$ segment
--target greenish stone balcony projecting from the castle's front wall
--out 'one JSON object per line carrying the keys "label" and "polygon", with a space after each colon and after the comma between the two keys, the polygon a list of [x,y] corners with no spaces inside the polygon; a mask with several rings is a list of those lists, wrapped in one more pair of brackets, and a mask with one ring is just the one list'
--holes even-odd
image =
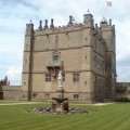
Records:
{"label": "greenish stone balcony projecting from the castle's front wall", "polygon": [[63,67],[63,61],[49,61],[47,67]]}

